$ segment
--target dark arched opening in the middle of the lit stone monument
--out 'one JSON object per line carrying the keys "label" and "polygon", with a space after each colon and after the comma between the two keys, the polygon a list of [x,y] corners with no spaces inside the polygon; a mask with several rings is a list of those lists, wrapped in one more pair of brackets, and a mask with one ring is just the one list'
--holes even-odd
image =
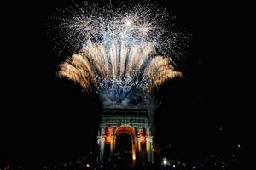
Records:
{"label": "dark arched opening in the middle of the lit stone monument", "polygon": [[129,133],[119,133],[116,137],[115,160],[120,167],[132,164],[132,143]]}

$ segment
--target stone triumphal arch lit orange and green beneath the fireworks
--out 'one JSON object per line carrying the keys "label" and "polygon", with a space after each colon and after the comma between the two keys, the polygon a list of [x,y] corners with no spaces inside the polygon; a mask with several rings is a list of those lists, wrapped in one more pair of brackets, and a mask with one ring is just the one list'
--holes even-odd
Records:
{"label": "stone triumphal arch lit orange and green beneath the fireworks", "polygon": [[[132,165],[154,163],[148,110],[103,109],[100,118],[97,162],[112,163],[122,159],[124,155],[121,153],[125,153],[128,157],[126,161],[131,161]],[[122,152],[124,147],[125,152]]]}

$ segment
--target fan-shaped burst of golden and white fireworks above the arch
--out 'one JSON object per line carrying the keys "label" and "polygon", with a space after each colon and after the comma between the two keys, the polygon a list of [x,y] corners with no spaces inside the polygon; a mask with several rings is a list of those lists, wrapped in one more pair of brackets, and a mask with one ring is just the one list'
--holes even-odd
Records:
{"label": "fan-shaped burst of golden and white fireworks above the arch", "polygon": [[60,77],[99,94],[104,107],[140,108],[154,103],[154,88],[182,76],[172,66],[186,37],[170,31],[166,10],[155,4],[99,7],[85,3],[61,20],[61,35],[75,51]]}

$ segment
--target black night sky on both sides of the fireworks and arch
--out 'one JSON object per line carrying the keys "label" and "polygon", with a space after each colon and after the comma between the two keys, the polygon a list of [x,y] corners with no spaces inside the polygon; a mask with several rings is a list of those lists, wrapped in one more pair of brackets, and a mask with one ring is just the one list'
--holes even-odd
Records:
{"label": "black night sky on both sides of the fireworks and arch", "polygon": [[[175,27],[191,34],[180,63],[183,79],[166,82],[156,92],[161,105],[155,111],[155,139],[163,154],[187,164],[213,156],[228,162],[227,169],[255,168],[256,125],[253,111],[244,105],[244,94],[251,91],[240,62],[245,53],[239,4],[159,2],[177,16]],[[71,4],[44,0],[2,7],[9,11],[2,20],[7,27],[1,55],[1,163],[37,167],[94,151],[101,102],[56,77],[69,54],[59,56],[47,33],[56,8]]]}

